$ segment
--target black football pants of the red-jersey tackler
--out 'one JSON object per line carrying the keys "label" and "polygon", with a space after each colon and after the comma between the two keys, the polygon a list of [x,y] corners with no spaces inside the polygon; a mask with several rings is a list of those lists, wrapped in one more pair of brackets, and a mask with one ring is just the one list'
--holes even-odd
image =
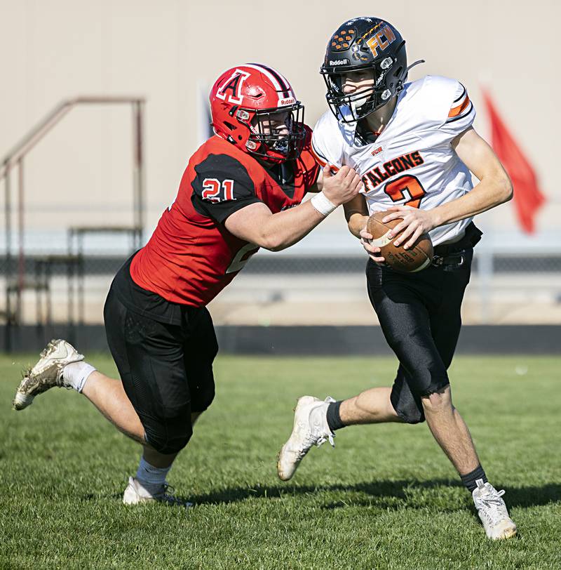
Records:
{"label": "black football pants of the red-jersey tackler", "polygon": [[181,326],[137,314],[111,289],[104,307],[105,333],[144,438],[160,453],[176,453],[193,434],[191,413],[215,396],[212,361],[218,343],[205,307],[185,307]]}

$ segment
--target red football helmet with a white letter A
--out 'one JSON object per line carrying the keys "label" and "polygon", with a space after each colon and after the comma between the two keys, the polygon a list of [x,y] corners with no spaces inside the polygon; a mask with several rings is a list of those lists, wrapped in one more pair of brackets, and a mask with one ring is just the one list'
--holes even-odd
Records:
{"label": "red football helmet with a white letter A", "polygon": [[246,63],[224,72],[210,91],[215,133],[244,152],[283,162],[302,152],[304,105],[272,67]]}

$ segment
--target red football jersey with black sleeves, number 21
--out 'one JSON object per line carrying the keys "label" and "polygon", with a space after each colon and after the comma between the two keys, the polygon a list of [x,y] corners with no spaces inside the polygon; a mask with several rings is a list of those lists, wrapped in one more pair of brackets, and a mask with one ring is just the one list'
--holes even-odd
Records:
{"label": "red football jersey with black sleeves, number 21", "polygon": [[300,157],[266,169],[250,154],[212,136],[189,160],[177,198],[133,259],[133,281],[173,303],[209,303],[259,249],[231,234],[224,221],[259,201],[273,213],[300,204],[319,174],[310,148],[311,129],[306,127]]}

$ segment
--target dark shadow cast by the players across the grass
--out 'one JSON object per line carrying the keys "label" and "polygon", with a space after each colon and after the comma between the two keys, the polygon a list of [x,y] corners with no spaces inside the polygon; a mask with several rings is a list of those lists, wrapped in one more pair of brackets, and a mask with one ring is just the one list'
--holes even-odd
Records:
{"label": "dark shadow cast by the players across the grass", "polygon": [[[433,481],[412,482],[407,480],[396,481],[374,481],[363,482],[357,484],[336,484],[336,485],[295,485],[295,484],[278,484],[275,486],[256,486],[250,487],[231,487],[221,491],[214,491],[202,495],[189,496],[189,501],[195,505],[217,505],[221,503],[238,503],[248,498],[282,498],[288,496],[304,496],[318,495],[323,492],[340,492],[340,493],[363,493],[368,496],[365,498],[353,498],[325,505],[324,508],[342,508],[347,504],[351,505],[378,505],[384,508],[426,508],[433,505],[433,500],[424,500],[425,491],[438,489],[439,487],[456,487],[464,489],[457,481],[450,479],[435,479]],[[502,487],[501,487],[502,488]],[[561,484],[550,483],[543,486],[524,486],[506,488],[506,503],[509,508],[512,507],[534,507],[539,505],[547,505],[561,501]],[[466,493],[466,503],[469,504],[469,496]],[[449,508],[445,505],[434,505],[439,511],[451,511],[464,509],[466,503],[458,503],[457,508]]]}

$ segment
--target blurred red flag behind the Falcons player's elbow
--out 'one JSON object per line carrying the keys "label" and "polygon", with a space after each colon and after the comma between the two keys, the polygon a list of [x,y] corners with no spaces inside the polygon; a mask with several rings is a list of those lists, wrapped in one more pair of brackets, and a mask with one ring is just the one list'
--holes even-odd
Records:
{"label": "blurred red flag behind the Falcons player's elbow", "polygon": [[513,182],[513,203],[518,221],[524,231],[531,234],[534,232],[534,216],[545,200],[539,190],[536,173],[485,90],[483,100],[491,121],[491,146]]}

